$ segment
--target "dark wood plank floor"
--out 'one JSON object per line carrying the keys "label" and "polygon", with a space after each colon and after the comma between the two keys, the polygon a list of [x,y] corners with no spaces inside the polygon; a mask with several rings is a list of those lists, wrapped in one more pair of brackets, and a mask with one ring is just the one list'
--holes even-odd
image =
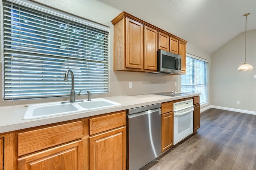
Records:
{"label": "dark wood plank floor", "polygon": [[256,115],[208,109],[200,129],[143,170],[256,170]]}

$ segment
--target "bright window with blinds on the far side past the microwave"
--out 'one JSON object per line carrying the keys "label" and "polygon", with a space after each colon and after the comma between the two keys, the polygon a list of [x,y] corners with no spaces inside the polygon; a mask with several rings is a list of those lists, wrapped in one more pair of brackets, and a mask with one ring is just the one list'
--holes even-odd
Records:
{"label": "bright window with blinds on the far side past the microwave", "polygon": [[181,75],[181,92],[200,93],[200,104],[208,102],[208,62],[186,57],[186,74]]}

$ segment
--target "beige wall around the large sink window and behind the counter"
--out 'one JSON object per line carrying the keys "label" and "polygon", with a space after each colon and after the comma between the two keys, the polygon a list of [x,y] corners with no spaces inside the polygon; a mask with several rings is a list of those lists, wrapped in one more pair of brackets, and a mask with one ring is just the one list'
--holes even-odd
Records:
{"label": "beige wall around the large sink window and behind the counter", "polygon": [[[113,25],[111,20],[114,19],[122,11],[107,6],[97,0],[34,0],[35,2],[51,6],[58,10],[74,14],[86,18],[88,20],[96,21],[98,23],[110,27],[110,43],[109,43],[109,59],[110,59],[110,94],[105,95],[92,95],[92,98],[104,98],[108,96],[130,96],[138,94],[149,94],[154,92],[165,91],[180,91],[178,89],[180,84],[180,75],[160,75],[160,74],[147,74],[140,72],[124,72],[113,71]],[[2,12],[1,12],[2,13]],[[164,21],[163,21],[164,22]],[[2,30],[1,30],[2,31]],[[2,35],[2,33],[1,33]],[[184,37],[181,37],[184,38]],[[1,44],[2,46],[2,44]],[[196,47],[188,45],[187,47],[196,54],[200,53]],[[194,50],[192,50],[194,49]],[[2,71],[2,68],[1,68]],[[1,74],[2,75],[2,72]],[[2,76],[3,78],[3,76]],[[128,82],[133,83],[133,88],[129,89]],[[175,82],[178,86],[175,87]],[[1,88],[2,93],[3,88]],[[2,94],[1,94],[2,96]],[[84,99],[87,96],[80,96],[77,99]],[[50,99],[37,99],[37,100],[18,100],[14,101],[15,105],[32,104],[39,102],[53,102],[69,100],[65,98],[50,98]],[[12,101],[0,102],[0,106],[12,105]]]}

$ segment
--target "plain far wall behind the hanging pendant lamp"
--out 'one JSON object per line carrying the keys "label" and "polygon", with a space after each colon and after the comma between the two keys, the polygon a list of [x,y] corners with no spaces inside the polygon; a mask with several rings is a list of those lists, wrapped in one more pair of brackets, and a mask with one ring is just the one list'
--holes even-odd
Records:
{"label": "plain far wall behind the hanging pendant lamp", "polygon": [[[256,29],[247,31],[246,37],[246,62],[256,69]],[[237,71],[244,63],[244,43],[245,33],[241,33],[212,54],[210,92],[213,106],[256,111],[256,70]]]}

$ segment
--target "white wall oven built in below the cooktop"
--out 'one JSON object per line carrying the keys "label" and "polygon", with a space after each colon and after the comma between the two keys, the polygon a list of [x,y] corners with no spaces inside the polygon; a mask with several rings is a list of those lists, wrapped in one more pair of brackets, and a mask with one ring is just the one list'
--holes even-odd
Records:
{"label": "white wall oven built in below the cooktop", "polygon": [[182,141],[185,137],[193,133],[193,99],[177,102],[173,104],[174,111],[174,143]]}

